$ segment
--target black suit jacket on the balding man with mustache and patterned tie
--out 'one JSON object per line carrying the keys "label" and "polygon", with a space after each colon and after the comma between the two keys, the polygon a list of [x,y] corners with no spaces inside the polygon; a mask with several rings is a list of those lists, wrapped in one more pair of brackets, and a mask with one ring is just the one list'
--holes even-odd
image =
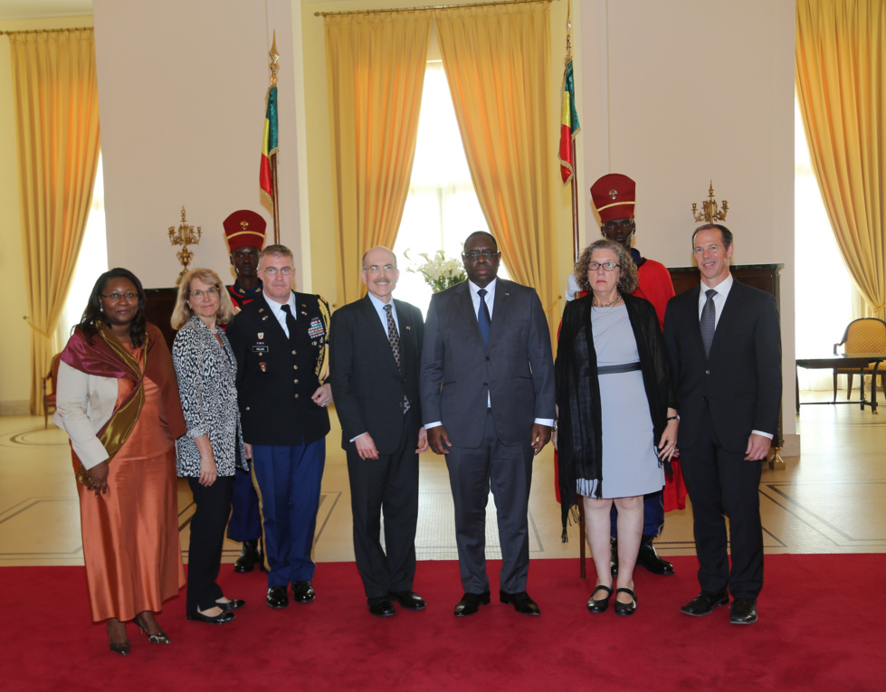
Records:
{"label": "black suit jacket on the balding man with mustache and patterned tie", "polygon": [[387,330],[368,296],[338,308],[332,315],[329,342],[329,382],[341,422],[341,447],[354,448],[353,438],[368,432],[379,454],[393,454],[400,444],[404,415],[400,404],[409,400],[415,440],[422,420],[418,394],[418,365],[424,340],[422,312],[394,300],[400,328],[397,369]]}

